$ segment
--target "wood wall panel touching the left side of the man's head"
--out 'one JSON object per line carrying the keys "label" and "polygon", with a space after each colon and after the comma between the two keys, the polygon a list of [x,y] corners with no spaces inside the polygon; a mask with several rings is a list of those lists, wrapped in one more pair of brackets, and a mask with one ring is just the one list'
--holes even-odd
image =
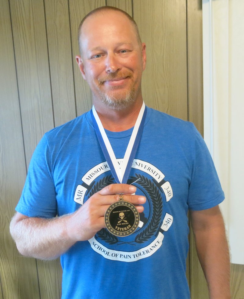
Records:
{"label": "wood wall panel touching the left side of the man's head", "polygon": [[73,64],[74,64],[74,82],[76,94],[77,115],[91,109],[91,91],[87,83],[83,80],[81,72],[75,61],[75,56],[79,55],[79,47],[77,41],[77,31],[81,20],[92,9],[105,5],[105,0],[73,0],[70,1],[70,20],[71,20],[71,40],[73,50]]}

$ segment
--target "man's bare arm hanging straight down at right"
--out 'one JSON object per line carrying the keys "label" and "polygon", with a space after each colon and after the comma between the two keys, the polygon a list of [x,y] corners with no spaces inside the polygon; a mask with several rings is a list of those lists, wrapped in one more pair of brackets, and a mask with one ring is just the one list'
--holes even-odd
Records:
{"label": "man's bare arm hanging straight down at right", "polygon": [[210,298],[231,298],[229,249],[219,207],[202,211],[190,210],[190,218]]}

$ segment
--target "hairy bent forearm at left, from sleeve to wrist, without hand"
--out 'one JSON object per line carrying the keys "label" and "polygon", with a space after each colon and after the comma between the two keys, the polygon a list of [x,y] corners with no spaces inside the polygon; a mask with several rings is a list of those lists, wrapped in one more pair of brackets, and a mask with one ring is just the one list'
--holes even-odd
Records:
{"label": "hairy bent forearm at left, from sleeve to wrist, without hand", "polygon": [[69,216],[60,218],[24,218],[10,224],[10,233],[21,254],[39,258],[54,259],[66,252],[75,242],[67,234]]}

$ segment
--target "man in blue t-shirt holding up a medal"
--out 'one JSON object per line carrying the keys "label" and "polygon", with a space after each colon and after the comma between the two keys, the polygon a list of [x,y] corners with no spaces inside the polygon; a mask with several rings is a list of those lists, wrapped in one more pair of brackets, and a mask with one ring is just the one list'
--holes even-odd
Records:
{"label": "man in blue t-shirt holding up a medal", "polygon": [[78,36],[94,109],[37,146],[10,226],[18,250],[61,255],[63,298],[189,298],[189,209],[210,296],[230,298],[224,196],[200,134],[145,108],[145,44],[130,16],[96,9]]}

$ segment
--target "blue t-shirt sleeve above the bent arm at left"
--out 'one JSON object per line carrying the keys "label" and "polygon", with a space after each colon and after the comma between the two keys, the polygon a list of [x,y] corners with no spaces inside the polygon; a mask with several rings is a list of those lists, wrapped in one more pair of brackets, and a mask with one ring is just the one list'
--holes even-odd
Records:
{"label": "blue t-shirt sleeve above the bent arm at left", "polygon": [[44,135],[31,158],[17,212],[28,217],[56,216],[56,192],[50,164],[50,151]]}

